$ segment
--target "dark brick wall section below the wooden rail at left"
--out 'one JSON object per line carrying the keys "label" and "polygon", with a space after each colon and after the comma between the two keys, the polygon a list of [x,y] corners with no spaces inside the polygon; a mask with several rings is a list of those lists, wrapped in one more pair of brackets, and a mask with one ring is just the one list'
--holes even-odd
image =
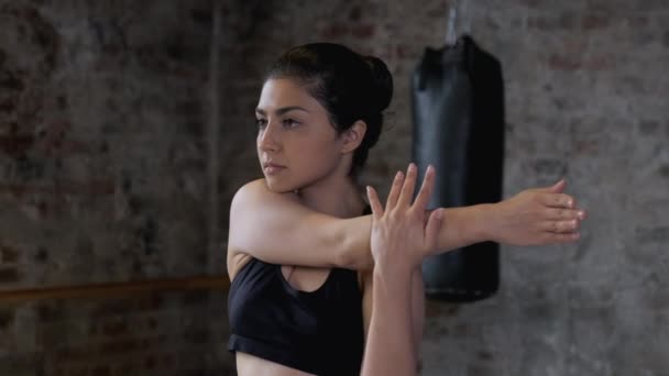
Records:
{"label": "dark brick wall section below the wooden rail at left", "polygon": [[[0,310],[0,374],[232,375],[224,297],[202,291],[45,301]],[[218,319],[217,319],[218,317]]]}

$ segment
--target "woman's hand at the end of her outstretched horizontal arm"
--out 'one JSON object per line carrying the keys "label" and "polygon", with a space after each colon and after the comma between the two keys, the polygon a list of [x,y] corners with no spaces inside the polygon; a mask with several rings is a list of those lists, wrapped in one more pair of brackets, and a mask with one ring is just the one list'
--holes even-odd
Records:
{"label": "woman's hand at the end of her outstretched horizontal arm", "polygon": [[563,193],[564,179],[551,187],[526,189],[491,206],[492,240],[509,245],[568,243],[580,237],[585,211]]}

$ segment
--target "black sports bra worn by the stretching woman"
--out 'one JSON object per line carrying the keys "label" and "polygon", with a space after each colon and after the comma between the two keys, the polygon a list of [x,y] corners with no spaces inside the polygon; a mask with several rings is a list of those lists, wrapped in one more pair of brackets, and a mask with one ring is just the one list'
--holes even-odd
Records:
{"label": "black sports bra worn by the stretching woman", "polygon": [[358,274],[332,268],[321,287],[296,290],[281,265],[251,259],[228,297],[228,350],[316,375],[359,375],[364,334]]}

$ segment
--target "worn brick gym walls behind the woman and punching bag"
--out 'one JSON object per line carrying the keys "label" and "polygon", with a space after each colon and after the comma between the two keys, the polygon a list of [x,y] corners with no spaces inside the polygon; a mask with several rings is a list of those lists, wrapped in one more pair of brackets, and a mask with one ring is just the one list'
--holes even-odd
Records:
{"label": "worn brick gym walls behind the woman and punching bag", "polygon": [[469,33],[502,63],[504,197],[568,180],[578,244],[501,250],[430,301],[424,375],[669,372],[669,1],[0,0],[0,375],[233,375],[228,208],[286,48],[343,43],[395,96],[364,181],[410,158],[409,77]]}

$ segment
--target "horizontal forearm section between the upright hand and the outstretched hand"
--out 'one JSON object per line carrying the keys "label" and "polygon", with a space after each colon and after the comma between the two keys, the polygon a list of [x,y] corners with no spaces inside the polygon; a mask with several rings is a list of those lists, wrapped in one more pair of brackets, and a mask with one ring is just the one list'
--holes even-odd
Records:
{"label": "horizontal forearm section between the upright hand and the outstretched hand", "polygon": [[494,241],[494,203],[481,203],[443,210],[443,220],[434,254],[443,253],[474,243]]}

